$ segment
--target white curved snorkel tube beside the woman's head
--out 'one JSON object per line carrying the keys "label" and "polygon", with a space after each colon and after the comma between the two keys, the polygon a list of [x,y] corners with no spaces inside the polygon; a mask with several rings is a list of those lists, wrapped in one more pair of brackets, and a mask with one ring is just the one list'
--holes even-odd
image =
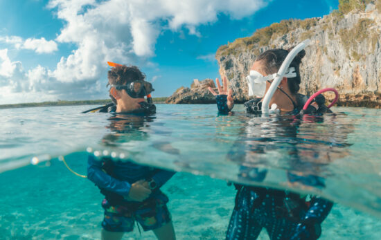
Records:
{"label": "white curved snorkel tube beside the woman's head", "polygon": [[[263,114],[269,114],[269,102],[272,99],[272,95],[274,95],[276,88],[278,85],[281,83],[281,80],[283,77],[285,77],[286,72],[288,71],[288,66],[290,66],[292,60],[294,57],[301,51],[303,48],[308,46],[310,44],[310,39],[305,39],[302,41],[300,44],[298,44],[296,47],[294,47],[290,53],[288,53],[287,57],[283,61],[283,64],[281,68],[279,68],[278,73],[276,73],[276,77],[274,78],[274,81],[269,87],[269,90],[267,91],[265,97],[263,98],[262,101],[262,113]],[[274,105],[274,104],[273,104]],[[276,109],[276,106],[272,106],[272,111]]]}

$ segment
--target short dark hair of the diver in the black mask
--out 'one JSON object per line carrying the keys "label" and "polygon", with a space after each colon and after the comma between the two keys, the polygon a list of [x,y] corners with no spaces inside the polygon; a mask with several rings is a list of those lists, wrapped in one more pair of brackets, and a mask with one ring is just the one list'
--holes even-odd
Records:
{"label": "short dark hair of the diver in the black mask", "polygon": [[[128,82],[133,82],[136,80],[143,81],[145,79],[145,74],[142,73],[137,66],[115,66],[107,73],[109,78],[109,85],[125,85]],[[112,102],[116,104],[116,99],[110,94]]]}

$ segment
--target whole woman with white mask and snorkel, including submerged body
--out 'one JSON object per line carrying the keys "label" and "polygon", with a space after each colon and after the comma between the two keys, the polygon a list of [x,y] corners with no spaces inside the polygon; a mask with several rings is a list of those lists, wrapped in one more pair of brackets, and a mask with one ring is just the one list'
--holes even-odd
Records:
{"label": "whole woman with white mask and snorkel, including submerged body", "polygon": [[[271,113],[281,115],[273,116],[272,122],[262,124],[256,124],[255,121],[247,122],[247,127],[244,129],[245,141],[238,140],[236,144],[236,148],[245,145],[245,151],[237,151],[233,147],[231,154],[228,154],[230,160],[241,166],[238,178],[242,182],[245,180],[248,183],[263,182],[267,170],[259,166],[266,166],[265,162],[270,159],[268,155],[261,159],[261,155],[268,150],[267,145],[271,145],[272,142],[295,138],[298,118],[303,116],[314,118],[323,113],[332,113],[324,105],[323,95],[316,94],[309,99],[298,93],[301,82],[299,64],[305,55],[303,48],[308,43],[308,40],[303,41],[290,50],[265,51],[256,58],[246,78],[249,96],[254,96],[254,99],[244,104],[246,113],[251,114],[253,118],[267,117]],[[228,115],[233,109],[232,91],[228,90],[226,77],[222,80],[222,86],[218,79],[216,80],[219,94],[211,88],[209,90],[216,97],[219,113]],[[262,95],[265,95],[264,98],[260,97]],[[272,124],[272,131],[263,131],[267,124]],[[277,124],[280,133],[274,130]],[[290,156],[292,169],[298,169],[295,166],[302,163],[298,160],[298,151],[295,150],[296,148],[290,147],[283,153]],[[299,176],[287,172],[287,177],[290,183],[299,182],[313,187],[325,186],[324,179],[314,174]],[[269,187],[242,184],[235,186],[238,192],[226,239],[256,239],[263,228],[267,230],[270,239],[318,239],[321,235],[321,222],[326,219],[333,207],[332,202],[319,196],[306,196]]]}

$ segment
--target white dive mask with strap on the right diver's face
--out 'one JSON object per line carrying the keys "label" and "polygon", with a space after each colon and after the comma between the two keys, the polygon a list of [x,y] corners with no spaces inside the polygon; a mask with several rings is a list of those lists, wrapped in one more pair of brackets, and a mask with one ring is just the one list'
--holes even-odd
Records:
{"label": "white dive mask with strap on the right diver's face", "polygon": [[[257,98],[263,97],[266,91],[266,82],[274,80],[278,76],[278,73],[267,75],[263,77],[262,74],[257,71],[251,70],[250,74],[246,77],[247,86],[249,87],[249,97],[256,96]],[[284,77],[296,77],[295,68],[288,68]]]}

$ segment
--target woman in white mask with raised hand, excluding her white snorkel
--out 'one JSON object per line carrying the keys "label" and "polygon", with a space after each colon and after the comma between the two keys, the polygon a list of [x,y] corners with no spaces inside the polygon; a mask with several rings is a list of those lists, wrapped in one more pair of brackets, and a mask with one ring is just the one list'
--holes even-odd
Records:
{"label": "woman in white mask with raised hand, excluding her white snorkel", "polygon": [[[278,86],[274,89],[267,104],[269,113],[281,113],[283,116],[298,116],[300,114],[321,115],[330,112],[324,106],[324,97],[320,95],[307,110],[303,110],[304,103],[308,98],[298,93],[301,77],[299,65],[305,55],[301,50],[299,54],[293,57],[290,66],[287,66],[283,75],[278,75],[283,62],[289,55],[290,50],[271,49],[260,54],[246,80],[249,86],[249,95],[254,99],[244,104],[245,111],[253,114],[254,117],[263,114],[263,95],[271,89],[272,82],[276,77],[281,77]],[[216,80],[219,93],[209,89],[215,95],[218,111],[220,114],[228,114],[233,109],[233,93],[228,89],[226,77],[222,77],[222,86],[219,80]],[[292,121],[290,121],[292,122]],[[287,122],[286,122],[287,123]],[[247,131],[256,131],[257,129],[247,126]],[[260,133],[258,133],[260,135]],[[251,136],[247,136],[250,138]],[[261,138],[264,138],[260,135]],[[263,144],[264,145],[264,144]],[[254,145],[253,147],[258,147]],[[249,148],[250,149],[250,148]],[[247,154],[256,154],[255,148],[248,150]],[[262,149],[258,147],[258,151]],[[250,151],[253,151],[250,153]],[[238,152],[237,154],[242,154]],[[246,154],[246,153],[245,153]],[[238,156],[233,156],[233,160],[238,160]],[[249,158],[249,156],[242,156]],[[261,182],[266,176],[266,171],[255,167],[255,164],[245,167],[242,163],[240,176],[250,178],[251,181]],[[308,178],[299,178],[295,174],[288,174],[289,181],[299,181],[305,185],[323,185],[319,178],[310,176]],[[226,239],[257,239],[260,231],[265,228],[270,239],[318,239],[321,235],[321,223],[328,216],[333,203],[319,196],[302,196],[290,191],[275,190],[268,187],[252,187],[249,185],[235,184],[238,190],[236,194],[235,206]]]}

